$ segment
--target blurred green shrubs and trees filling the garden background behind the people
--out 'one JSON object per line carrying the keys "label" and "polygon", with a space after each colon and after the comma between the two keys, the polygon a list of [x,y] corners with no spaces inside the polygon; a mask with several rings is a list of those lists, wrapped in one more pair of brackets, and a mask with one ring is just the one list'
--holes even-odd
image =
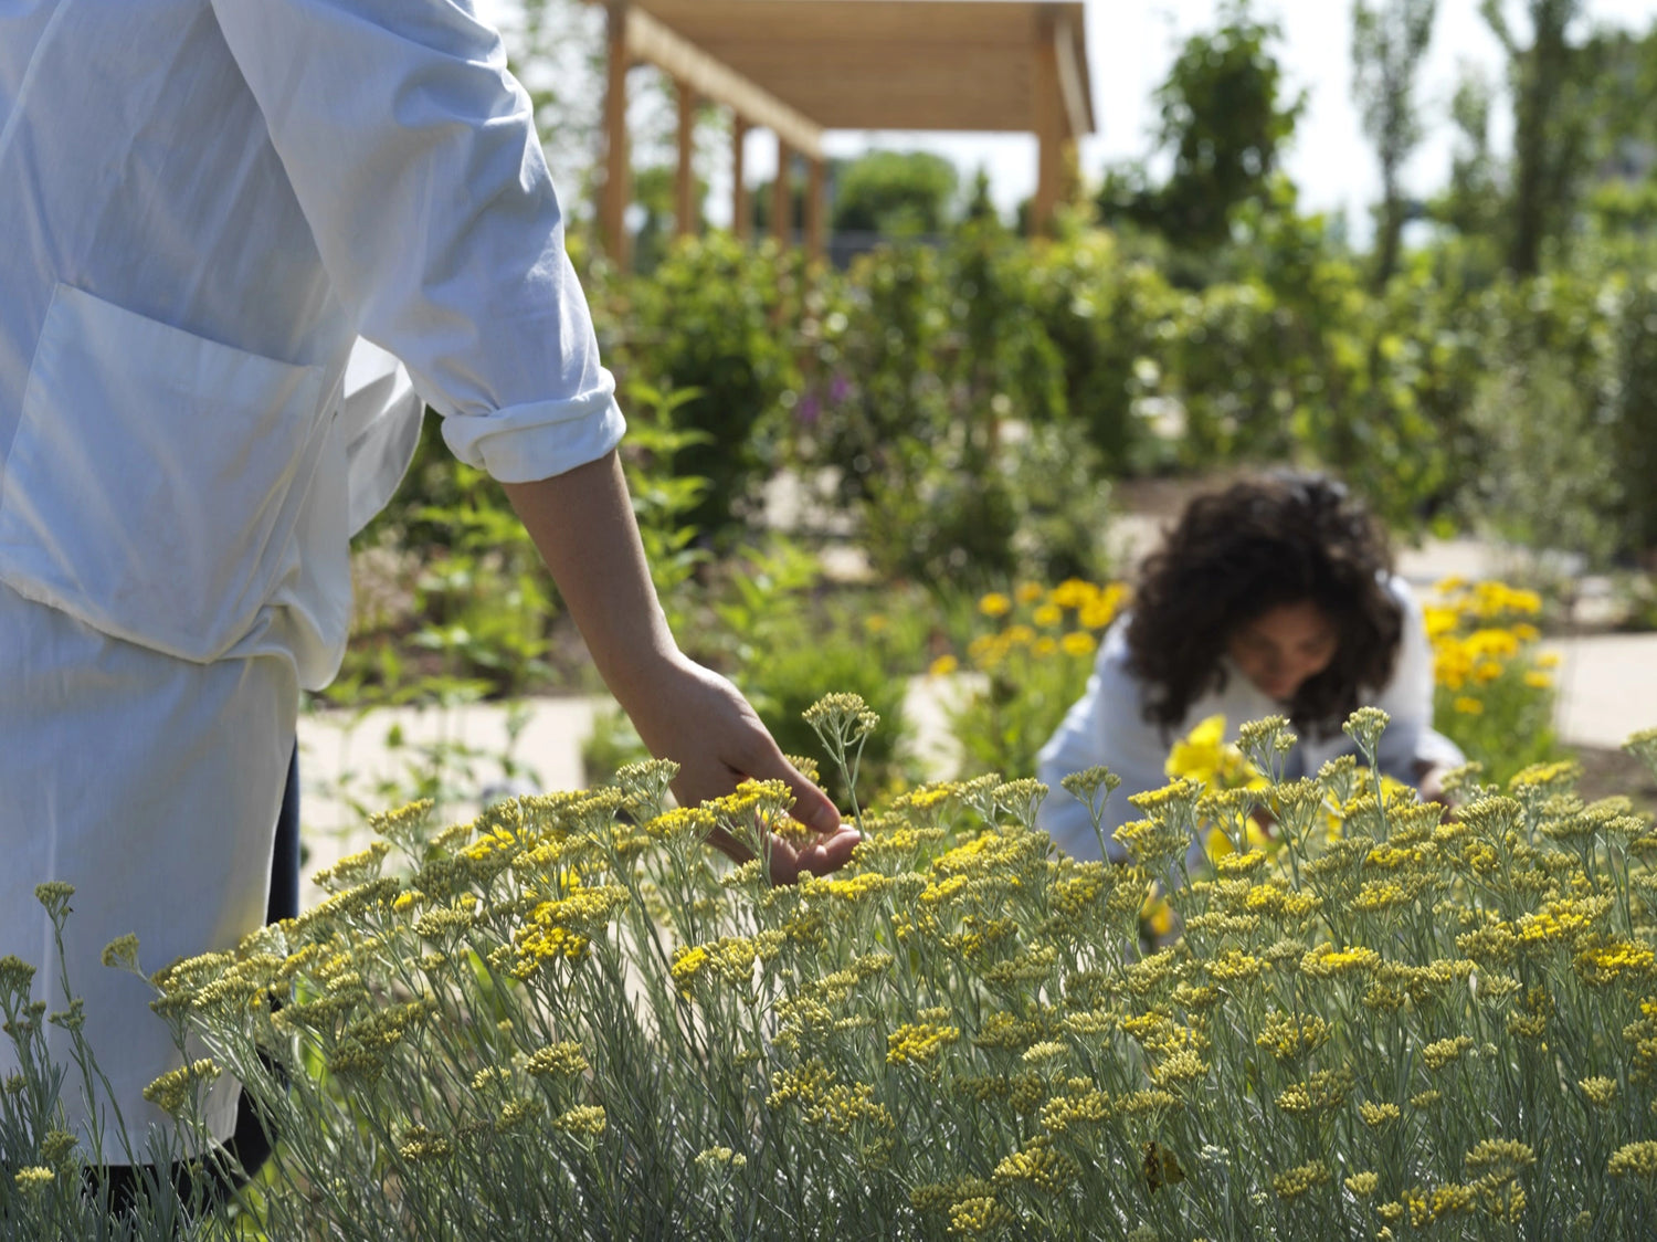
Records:
{"label": "blurred green shrubs and trees filling the garden background behind the people", "polygon": [[[1437,5],[1354,5],[1382,182],[1364,247],[1283,171],[1304,99],[1248,3],[1176,55],[1145,159],[1097,169],[1054,237],[1001,219],[983,176],[963,187],[933,156],[886,151],[832,169],[835,230],[883,235],[843,265],[706,227],[673,242],[671,96],[641,71],[636,265],[590,247],[585,171],[572,254],[686,647],[785,738],[827,686],[896,721],[882,686],[964,652],[984,592],[1125,575],[1115,497],[1284,461],[1342,474],[1400,541],[1536,552],[1564,597],[1544,627],[1569,623],[1582,570],[1614,570],[1622,620],[1649,623],[1657,33],[1594,28],[1574,0],[1483,13],[1508,71],[1466,76],[1435,111],[1417,76]],[[597,114],[552,70],[598,55],[598,33],[565,0],[527,5],[510,33],[555,158],[583,169]],[[1511,149],[1491,139],[1501,113]],[[698,118],[704,181],[721,124]],[[1435,124],[1458,134],[1453,169],[1412,199],[1400,169]],[[358,582],[336,701],[597,688],[499,489],[432,434],[363,537]],[[625,733],[595,743],[598,771]],[[896,773],[906,743],[885,733],[875,769]]]}

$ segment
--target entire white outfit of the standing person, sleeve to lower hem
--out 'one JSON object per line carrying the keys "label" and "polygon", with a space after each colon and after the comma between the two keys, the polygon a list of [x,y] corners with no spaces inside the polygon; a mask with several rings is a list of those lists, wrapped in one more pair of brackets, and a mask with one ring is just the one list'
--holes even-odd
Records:
{"label": "entire white outfit of the standing person, sleeve to lower hem", "polygon": [[623,425],[467,0],[0,5],[0,955],[61,1008],[33,889],[76,885],[71,985],[143,1133],[177,1058],[98,952],[262,920],[298,688],[421,403],[509,483]]}

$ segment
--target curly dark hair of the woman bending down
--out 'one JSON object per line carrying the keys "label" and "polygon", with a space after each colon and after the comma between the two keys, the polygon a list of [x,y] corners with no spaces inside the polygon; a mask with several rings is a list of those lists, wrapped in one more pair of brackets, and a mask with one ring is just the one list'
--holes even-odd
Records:
{"label": "curly dark hair of the woman bending down", "polygon": [[1362,686],[1392,677],[1403,610],[1387,590],[1390,570],[1385,532],[1321,474],[1281,471],[1195,497],[1147,557],[1133,597],[1128,667],[1148,686],[1145,720],[1178,725],[1201,695],[1225,690],[1221,657],[1241,627],[1309,600],[1339,642],[1289,715],[1301,733],[1332,735]]}

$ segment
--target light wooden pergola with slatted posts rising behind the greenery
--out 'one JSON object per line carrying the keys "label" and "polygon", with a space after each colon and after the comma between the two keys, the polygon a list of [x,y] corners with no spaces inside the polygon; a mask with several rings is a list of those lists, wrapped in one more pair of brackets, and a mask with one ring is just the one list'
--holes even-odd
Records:
{"label": "light wooden pergola with slatted posts rising behind the greenery", "polygon": [[1034,133],[1041,143],[1034,222],[1046,230],[1094,131],[1079,0],[593,0],[610,15],[608,139],[600,227],[626,259],[631,201],[626,75],[648,63],[673,78],[679,106],[676,217],[696,227],[691,169],[696,106],[734,114],[732,227],[747,232],[747,133],[777,139],[771,224],[792,234],[790,167],[807,161],[805,245],[824,252],[825,129]]}

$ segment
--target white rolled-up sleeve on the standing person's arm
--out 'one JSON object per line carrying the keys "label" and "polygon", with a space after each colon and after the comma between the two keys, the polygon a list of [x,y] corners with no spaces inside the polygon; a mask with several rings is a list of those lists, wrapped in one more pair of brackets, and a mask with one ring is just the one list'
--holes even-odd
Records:
{"label": "white rolled-up sleeve on the standing person's arm", "polygon": [[529,96],[457,0],[212,0],[318,252],[462,461],[529,483],[623,420]]}

